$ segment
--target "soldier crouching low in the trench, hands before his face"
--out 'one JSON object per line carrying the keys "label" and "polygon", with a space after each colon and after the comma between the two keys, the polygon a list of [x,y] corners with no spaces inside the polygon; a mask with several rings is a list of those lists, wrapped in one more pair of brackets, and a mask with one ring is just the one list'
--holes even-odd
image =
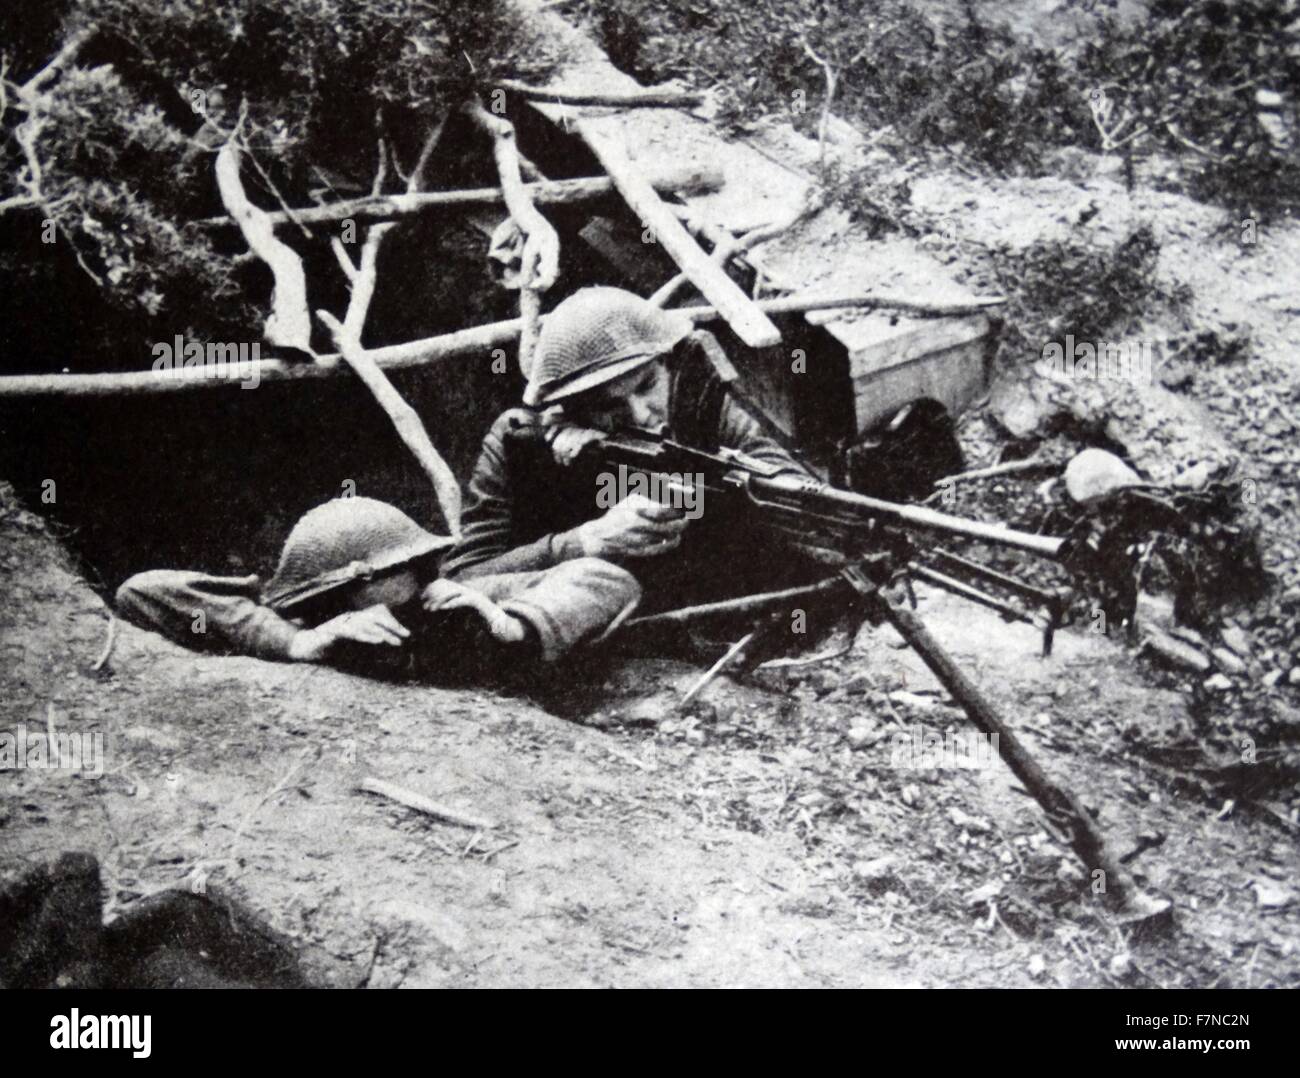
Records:
{"label": "soldier crouching low in the trench, hands before his face", "polygon": [[503,659],[554,662],[640,598],[629,573],[594,558],[456,584],[438,577],[451,544],[385,502],[338,498],[294,525],[265,586],[155,570],[125,581],[117,607],[202,650],[463,679]]}

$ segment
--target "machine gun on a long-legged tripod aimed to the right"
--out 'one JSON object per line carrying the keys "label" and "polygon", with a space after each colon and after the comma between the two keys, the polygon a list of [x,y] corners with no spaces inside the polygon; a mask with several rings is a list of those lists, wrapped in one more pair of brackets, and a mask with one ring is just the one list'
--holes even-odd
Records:
{"label": "machine gun on a long-legged tripod aimed to the right", "polygon": [[[720,348],[710,355],[710,360],[740,406],[798,460],[785,432],[737,393],[734,368],[720,355]],[[910,588],[913,580],[944,588],[1006,618],[1037,625],[1043,632],[1043,653],[1046,655],[1052,649],[1052,636],[1069,605],[1069,589],[1036,588],[967,558],[936,550],[931,537],[937,533],[978,540],[1057,563],[1076,557],[1080,547],[1089,544],[1031,534],[923,506],[885,502],[829,486],[807,466],[806,476],[777,473],[775,468],[734,450],[707,453],[645,432],[607,436],[589,447],[589,453],[594,454],[602,467],[625,468],[628,475],[640,473],[662,492],[671,492],[673,484],[689,482],[694,488],[689,492],[690,497],[703,497],[711,514],[731,519],[732,511],[744,512],[745,519],[755,527],[781,534],[805,553],[816,555],[820,551],[836,557],[837,570],[815,584],[629,622],[627,628],[634,629],[654,624],[693,624],[719,616],[753,619],[755,628],[714,664],[688,693],[685,702],[722,671],[753,668],[757,658],[763,654],[764,642],[775,636],[779,627],[788,624],[780,616],[785,611],[810,602],[848,601],[862,618],[893,625],[971,722],[983,733],[997,735],[991,740],[997,745],[998,754],[1039,801],[1048,819],[1067,837],[1084,866],[1105,873],[1102,893],[1122,918],[1149,921],[1169,914],[1170,902],[1153,899],[1138,888],[1124,866],[1106,847],[1088,810],[1039,766],[989,700],[931,636],[913,609],[887,593],[894,590],[894,585],[902,585],[914,607],[915,597]],[[922,544],[916,542],[918,536],[926,537]],[[1010,597],[993,594],[954,573],[974,577],[984,585],[1010,593]]]}

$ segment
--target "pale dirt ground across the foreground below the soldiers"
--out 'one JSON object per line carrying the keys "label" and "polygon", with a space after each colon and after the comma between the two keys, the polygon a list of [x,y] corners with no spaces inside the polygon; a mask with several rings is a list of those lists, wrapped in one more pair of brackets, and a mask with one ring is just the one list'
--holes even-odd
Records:
{"label": "pale dirt ground across the foreground below the soldiers", "polygon": [[[1294,837],[1131,752],[1191,719],[1105,637],[1066,633],[1044,661],[1026,627],[922,605],[1117,849],[1165,836],[1132,867],[1178,927],[1145,941],[1079,897],[1000,765],[889,767],[894,733],[963,722],[892,631],[833,666],[716,684],[688,719],[672,700],[697,671],[670,662],[615,666],[581,723],[125,624],[96,672],[100,599],[8,492],[0,529],[6,727],[52,707],[108,744],[98,779],[4,775],[3,870],[90,850],[109,917],[221,887],[325,983],[373,987],[1295,983]],[[363,774],[498,826],[433,822],[356,792]]]}

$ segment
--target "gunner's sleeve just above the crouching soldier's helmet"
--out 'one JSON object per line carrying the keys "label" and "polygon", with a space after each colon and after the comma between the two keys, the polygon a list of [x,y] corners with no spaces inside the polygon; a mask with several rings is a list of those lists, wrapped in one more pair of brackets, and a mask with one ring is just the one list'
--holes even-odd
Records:
{"label": "gunner's sleeve just above the crouching soldier's helmet", "polygon": [[529,414],[512,410],[497,419],[484,438],[469,479],[469,497],[460,516],[460,541],[442,563],[442,575],[448,579],[546,570],[582,557],[581,542],[573,531],[526,534],[519,498],[543,499],[549,492],[524,489],[528,480],[512,473],[517,454],[507,447],[507,440],[532,441],[536,442],[530,446],[534,453],[550,453],[541,428]]}

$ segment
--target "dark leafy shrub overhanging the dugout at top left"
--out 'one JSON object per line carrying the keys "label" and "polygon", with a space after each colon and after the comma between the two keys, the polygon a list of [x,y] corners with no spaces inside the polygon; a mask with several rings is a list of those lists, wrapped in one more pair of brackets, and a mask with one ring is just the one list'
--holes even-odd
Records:
{"label": "dark leafy shrub overhanging the dugout at top left", "polygon": [[[25,101],[20,85],[86,27],[74,62]],[[81,296],[66,278],[84,270],[99,313],[143,339],[239,339],[259,322],[256,269],[231,261],[242,244],[192,224],[221,212],[213,159],[240,114],[251,194],[300,205],[322,174],[368,189],[381,133],[411,164],[467,94],[552,62],[506,0],[65,0],[31,25],[5,12],[0,29],[12,79],[0,198],[34,179],[20,135],[42,173],[38,218],[0,220],[0,267],[56,302],[68,287]],[[29,242],[40,218],[61,242]],[[29,337],[16,343],[68,347],[48,326]]]}

